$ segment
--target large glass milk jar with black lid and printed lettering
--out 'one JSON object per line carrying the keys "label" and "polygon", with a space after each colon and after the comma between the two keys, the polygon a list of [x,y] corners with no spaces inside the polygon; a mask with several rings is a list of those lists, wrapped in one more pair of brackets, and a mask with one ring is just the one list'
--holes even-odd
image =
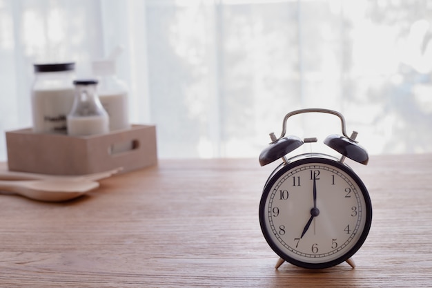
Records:
{"label": "large glass milk jar with black lid and printed lettering", "polygon": [[74,101],[75,63],[34,64],[32,121],[35,133],[66,134],[66,115]]}

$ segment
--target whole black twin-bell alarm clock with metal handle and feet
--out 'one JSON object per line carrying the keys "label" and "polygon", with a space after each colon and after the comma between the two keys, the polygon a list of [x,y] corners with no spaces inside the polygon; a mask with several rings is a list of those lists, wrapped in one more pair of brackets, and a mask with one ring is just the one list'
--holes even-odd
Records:
{"label": "whole black twin-bell alarm clock with metal handle and feet", "polygon": [[[342,135],[329,135],[324,144],[340,153],[332,157],[323,153],[286,155],[305,142],[297,136],[285,136],[289,117],[301,113],[328,113],[342,123]],[[279,260],[309,269],[333,267],[351,258],[366,237],[372,222],[372,204],[360,177],[344,163],[346,157],[366,165],[368,153],[355,138],[346,135],[341,113],[311,108],[288,113],[284,117],[279,138],[270,134],[271,144],[259,155],[264,166],[276,160],[282,164],[271,173],[264,185],[259,203],[259,223],[262,233]]]}

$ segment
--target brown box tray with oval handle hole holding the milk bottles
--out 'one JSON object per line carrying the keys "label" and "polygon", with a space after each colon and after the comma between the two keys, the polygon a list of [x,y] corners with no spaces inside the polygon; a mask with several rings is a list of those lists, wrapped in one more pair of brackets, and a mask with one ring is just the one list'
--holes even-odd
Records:
{"label": "brown box tray with oval handle hole holding the milk bottles", "polygon": [[156,127],[132,125],[108,134],[72,137],[6,132],[10,171],[82,175],[123,167],[121,173],[157,164]]}

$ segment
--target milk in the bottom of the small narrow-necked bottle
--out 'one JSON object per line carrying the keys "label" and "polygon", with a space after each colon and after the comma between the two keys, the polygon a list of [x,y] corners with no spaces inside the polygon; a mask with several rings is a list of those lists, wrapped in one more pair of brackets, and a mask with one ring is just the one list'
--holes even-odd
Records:
{"label": "milk in the bottom of the small narrow-necked bottle", "polygon": [[68,135],[86,136],[108,132],[108,117],[106,117],[106,115],[84,117],[68,116]]}

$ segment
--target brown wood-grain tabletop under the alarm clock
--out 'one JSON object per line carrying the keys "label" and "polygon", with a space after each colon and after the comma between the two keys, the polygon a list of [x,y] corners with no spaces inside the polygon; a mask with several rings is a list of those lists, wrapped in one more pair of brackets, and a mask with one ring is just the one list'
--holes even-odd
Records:
{"label": "brown wood-grain tabletop under the alarm clock", "polygon": [[61,204],[0,195],[0,287],[432,287],[432,155],[349,162],[373,224],[346,263],[284,263],[259,228],[257,160],[160,160]]}

